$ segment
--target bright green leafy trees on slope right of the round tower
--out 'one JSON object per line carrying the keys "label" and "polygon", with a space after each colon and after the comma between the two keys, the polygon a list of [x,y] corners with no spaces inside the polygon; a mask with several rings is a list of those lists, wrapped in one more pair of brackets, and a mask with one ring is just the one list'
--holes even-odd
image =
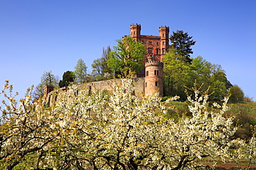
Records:
{"label": "bright green leafy trees on slope right of the round tower", "polygon": [[191,63],[185,62],[184,56],[179,55],[175,49],[171,49],[165,55],[163,62],[166,63],[164,72],[164,92],[168,96],[181,96],[186,99],[185,89],[192,88],[194,83],[201,90],[210,94],[210,101],[220,101],[227,96],[228,89],[232,86],[226,78],[221,65],[214,65],[197,56]]}

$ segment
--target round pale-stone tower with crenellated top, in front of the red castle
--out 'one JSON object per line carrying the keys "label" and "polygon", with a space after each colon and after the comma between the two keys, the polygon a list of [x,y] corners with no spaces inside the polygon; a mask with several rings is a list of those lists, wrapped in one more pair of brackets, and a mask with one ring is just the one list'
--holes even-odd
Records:
{"label": "round pale-stone tower with crenellated top, in front of the red castle", "polygon": [[145,63],[145,96],[152,96],[158,92],[163,96],[163,63],[154,61],[154,56],[149,55]]}

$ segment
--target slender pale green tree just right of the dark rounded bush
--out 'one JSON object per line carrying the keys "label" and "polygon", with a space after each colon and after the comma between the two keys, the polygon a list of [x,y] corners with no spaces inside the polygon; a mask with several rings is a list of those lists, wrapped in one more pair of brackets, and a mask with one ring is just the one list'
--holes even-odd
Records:
{"label": "slender pale green tree just right of the dark rounded bush", "polygon": [[86,72],[87,66],[85,65],[82,59],[77,61],[77,65],[75,65],[75,79],[78,84],[86,83]]}

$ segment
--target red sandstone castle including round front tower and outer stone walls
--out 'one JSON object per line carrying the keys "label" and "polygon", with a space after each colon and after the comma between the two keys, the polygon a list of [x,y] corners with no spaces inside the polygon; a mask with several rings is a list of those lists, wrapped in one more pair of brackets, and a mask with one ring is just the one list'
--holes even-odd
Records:
{"label": "red sandstone castle including round front tower and outer stone walls", "polygon": [[[134,87],[136,96],[152,96],[158,92],[158,96],[163,96],[163,63],[162,59],[170,48],[169,45],[169,27],[159,27],[159,36],[141,35],[141,25],[130,25],[130,35],[135,41],[140,41],[145,44],[147,54],[143,62],[143,70],[134,78]],[[111,90],[113,81],[97,81],[78,85],[80,89],[90,89],[91,92],[96,92],[98,89]],[[56,93],[66,91],[67,89],[59,89]],[[48,105],[51,105],[57,96],[53,94],[53,87],[44,87],[44,98]],[[77,92],[78,93],[78,92]]]}

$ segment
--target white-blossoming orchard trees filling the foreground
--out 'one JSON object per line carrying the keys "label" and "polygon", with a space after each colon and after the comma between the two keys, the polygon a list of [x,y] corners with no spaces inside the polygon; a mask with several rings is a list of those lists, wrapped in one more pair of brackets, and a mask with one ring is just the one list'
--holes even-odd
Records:
{"label": "white-blossoming orchard trees filling the foreground", "polygon": [[[196,169],[213,162],[255,158],[255,136],[230,140],[227,99],[208,111],[207,94],[188,96],[192,116],[165,118],[156,96],[134,96],[131,79],[111,92],[71,86],[46,107],[28,92],[19,106],[6,82],[0,119],[0,169]],[[172,98],[174,99],[174,98]],[[168,101],[166,101],[168,102]]]}

